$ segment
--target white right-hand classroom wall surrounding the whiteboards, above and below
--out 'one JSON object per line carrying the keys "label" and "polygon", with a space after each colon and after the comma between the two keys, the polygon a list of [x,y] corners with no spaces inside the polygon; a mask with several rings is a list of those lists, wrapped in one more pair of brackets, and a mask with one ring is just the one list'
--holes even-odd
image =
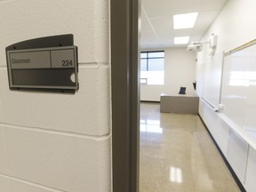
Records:
{"label": "white right-hand classroom wall surrounding the whiteboards, above and below", "polygon": [[[212,23],[211,28],[206,32],[203,40],[208,40],[209,36],[214,33],[218,35],[218,45],[216,52],[228,52],[237,46],[248,43],[256,38],[256,25],[253,18],[256,17],[255,0],[229,0],[223,8],[218,18]],[[202,96],[204,89],[204,64],[207,60],[208,50],[204,46],[204,51],[197,54],[196,81],[199,86],[198,95]],[[224,63],[225,65],[225,63]],[[255,154],[255,148],[251,148],[244,139],[236,136],[234,140],[234,131],[232,127],[225,123],[220,116],[214,112],[206,103],[200,100],[199,114],[202,116],[204,123],[209,128],[214,139],[220,146],[223,154],[228,158],[229,164],[235,170],[237,176],[243,183],[248,192],[256,188],[255,172],[256,161],[252,161]],[[239,150],[236,150],[239,146]],[[243,148],[241,148],[243,146]],[[248,153],[248,147],[250,153]],[[232,156],[231,156],[231,155]],[[249,165],[247,167],[247,156]],[[243,161],[240,161],[242,159]],[[237,161],[240,161],[237,164]],[[243,172],[239,172],[243,170]],[[244,173],[247,170],[246,174]],[[253,189],[252,189],[253,188]]]}

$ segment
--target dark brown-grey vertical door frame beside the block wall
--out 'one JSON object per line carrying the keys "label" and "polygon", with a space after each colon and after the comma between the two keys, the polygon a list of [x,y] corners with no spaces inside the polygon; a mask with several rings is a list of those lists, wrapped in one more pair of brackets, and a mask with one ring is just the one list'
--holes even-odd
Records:
{"label": "dark brown-grey vertical door frame beside the block wall", "polygon": [[110,0],[113,192],[139,192],[140,0]]}

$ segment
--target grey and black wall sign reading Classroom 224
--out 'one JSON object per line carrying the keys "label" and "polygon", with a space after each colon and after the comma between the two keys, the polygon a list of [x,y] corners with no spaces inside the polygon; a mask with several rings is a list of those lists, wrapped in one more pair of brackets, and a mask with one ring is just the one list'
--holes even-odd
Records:
{"label": "grey and black wall sign reading Classroom 224", "polygon": [[78,89],[77,47],[72,35],[12,44],[6,48],[6,58],[10,89],[53,92]]}

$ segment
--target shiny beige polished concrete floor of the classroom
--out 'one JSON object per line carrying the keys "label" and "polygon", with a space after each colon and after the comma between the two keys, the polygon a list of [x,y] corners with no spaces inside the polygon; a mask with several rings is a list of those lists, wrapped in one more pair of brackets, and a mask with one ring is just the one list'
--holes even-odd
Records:
{"label": "shiny beige polished concrete floor of the classroom", "polygon": [[199,116],[140,105],[140,192],[240,191]]}

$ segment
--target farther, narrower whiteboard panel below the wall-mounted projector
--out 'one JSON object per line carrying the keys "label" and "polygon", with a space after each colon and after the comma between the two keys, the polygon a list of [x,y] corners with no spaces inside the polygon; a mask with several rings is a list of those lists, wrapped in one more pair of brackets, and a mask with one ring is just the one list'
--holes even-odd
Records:
{"label": "farther, narrower whiteboard panel below the wall-mounted projector", "polygon": [[216,53],[212,58],[207,60],[204,67],[203,99],[216,110],[219,109],[220,104],[223,56],[224,52]]}

